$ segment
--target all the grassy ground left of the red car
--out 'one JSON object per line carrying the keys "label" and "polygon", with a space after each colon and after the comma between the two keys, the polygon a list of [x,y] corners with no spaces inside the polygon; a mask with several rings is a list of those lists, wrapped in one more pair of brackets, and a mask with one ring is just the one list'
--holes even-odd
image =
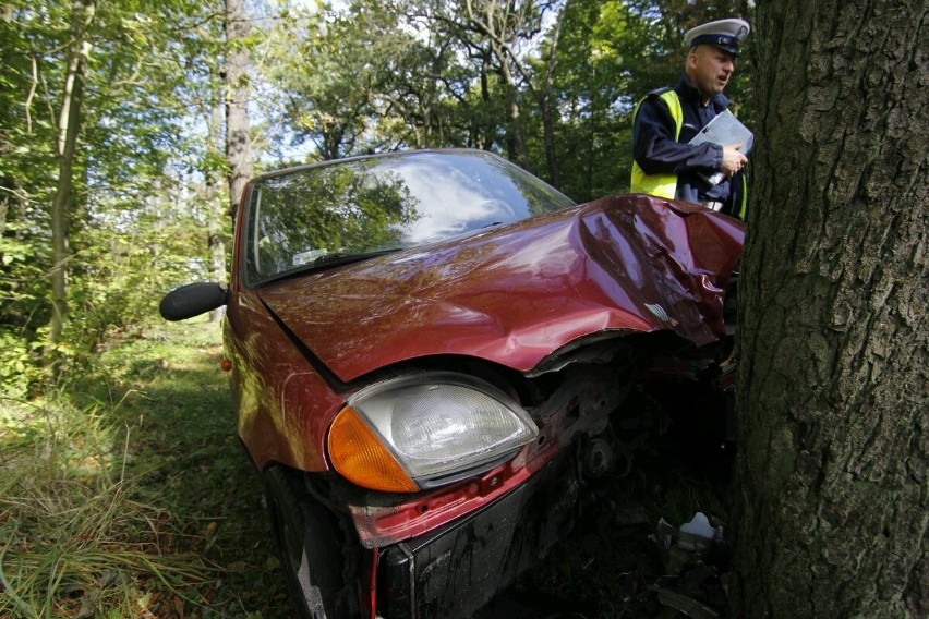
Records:
{"label": "all the grassy ground left of the red car", "polygon": [[219,341],[158,325],[0,402],[0,617],[288,616]]}

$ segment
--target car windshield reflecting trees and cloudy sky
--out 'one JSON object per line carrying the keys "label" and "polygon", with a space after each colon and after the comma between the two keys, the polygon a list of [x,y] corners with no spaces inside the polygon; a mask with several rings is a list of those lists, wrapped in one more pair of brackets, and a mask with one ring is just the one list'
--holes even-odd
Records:
{"label": "car windshield reflecting trees and cloudy sky", "polygon": [[244,257],[252,286],[443,241],[571,206],[543,181],[483,151],[346,159],[258,179]]}

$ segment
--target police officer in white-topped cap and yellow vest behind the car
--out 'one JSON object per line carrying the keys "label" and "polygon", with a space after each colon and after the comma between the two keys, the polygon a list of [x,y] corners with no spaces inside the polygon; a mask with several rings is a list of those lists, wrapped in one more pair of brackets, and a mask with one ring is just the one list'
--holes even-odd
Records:
{"label": "police officer in white-topped cap and yellow vest behind the car", "polygon": [[[671,88],[649,93],[632,125],[632,193],[677,198],[745,218],[747,187],[744,144],[688,144],[728,107],[723,94],[735,71],[738,46],[748,35],[744,20],[720,20],[687,32],[690,51],[684,75]],[[723,172],[722,181],[708,180]]]}

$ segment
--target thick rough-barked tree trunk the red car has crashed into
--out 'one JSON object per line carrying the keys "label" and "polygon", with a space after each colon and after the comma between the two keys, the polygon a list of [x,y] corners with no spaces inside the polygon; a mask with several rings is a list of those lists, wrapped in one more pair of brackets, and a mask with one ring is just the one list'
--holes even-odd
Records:
{"label": "thick rough-barked tree trunk the red car has crashed into", "polygon": [[929,616],[927,7],[758,7],[733,617]]}

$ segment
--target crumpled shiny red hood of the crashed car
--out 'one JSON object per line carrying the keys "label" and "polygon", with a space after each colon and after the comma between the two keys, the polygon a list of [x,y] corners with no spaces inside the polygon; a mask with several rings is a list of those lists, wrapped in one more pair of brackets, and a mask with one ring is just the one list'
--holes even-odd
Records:
{"label": "crumpled shiny red hood of the crashed car", "polygon": [[529,372],[603,331],[724,336],[741,222],[622,195],[260,291],[341,380],[427,355]]}

